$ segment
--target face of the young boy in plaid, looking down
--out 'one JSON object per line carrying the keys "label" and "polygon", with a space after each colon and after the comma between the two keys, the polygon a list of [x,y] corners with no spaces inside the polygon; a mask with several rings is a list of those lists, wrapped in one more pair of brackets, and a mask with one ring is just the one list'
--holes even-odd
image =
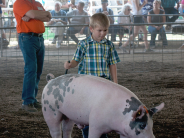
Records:
{"label": "face of the young boy in plaid, looking down", "polygon": [[108,33],[108,27],[96,26],[93,28],[90,26],[89,29],[92,33],[92,38],[97,42],[100,42],[102,39],[104,39]]}

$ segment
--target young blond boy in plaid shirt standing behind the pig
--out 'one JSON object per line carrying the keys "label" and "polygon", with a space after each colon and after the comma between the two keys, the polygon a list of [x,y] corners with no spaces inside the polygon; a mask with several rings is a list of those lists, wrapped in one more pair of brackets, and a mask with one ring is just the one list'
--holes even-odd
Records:
{"label": "young blond boy in plaid shirt standing behind the pig", "polygon": [[[118,83],[116,63],[120,62],[117,51],[111,41],[105,38],[110,22],[103,13],[96,13],[90,19],[91,35],[78,43],[77,50],[70,63],[64,63],[66,69],[79,65],[78,74],[88,74],[113,80]],[[84,138],[88,138],[89,126],[83,129]],[[101,138],[106,137],[102,135]]]}

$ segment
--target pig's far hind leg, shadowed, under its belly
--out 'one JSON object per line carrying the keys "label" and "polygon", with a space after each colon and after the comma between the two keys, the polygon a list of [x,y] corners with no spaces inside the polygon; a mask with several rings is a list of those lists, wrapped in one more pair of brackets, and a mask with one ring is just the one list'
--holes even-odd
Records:
{"label": "pig's far hind leg, shadowed, under its belly", "polygon": [[71,138],[74,122],[70,119],[62,120],[63,138]]}

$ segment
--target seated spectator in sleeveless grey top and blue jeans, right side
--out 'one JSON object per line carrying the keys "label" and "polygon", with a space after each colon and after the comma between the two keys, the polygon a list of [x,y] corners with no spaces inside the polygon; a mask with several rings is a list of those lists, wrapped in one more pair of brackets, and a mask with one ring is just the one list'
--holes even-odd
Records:
{"label": "seated spectator in sleeveless grey top and blue jeans, right side", "polygon": [[[153,2],[153,9],[148,12],[148,15],[158,15],[158,14],[165,14],[165,12],[160,9],[161,8],[161,1],[154,0]],[[148,23],[165,23],[166,19],[165,16],[148,16]],[[157,34],[162,36],[163,46],[167,46],[167,38],[165,34],[165,29],[162,25],[150,25],[148,27],[148,31],[151,33],[151,41],[150,47],[155,47],[155,38]]]}

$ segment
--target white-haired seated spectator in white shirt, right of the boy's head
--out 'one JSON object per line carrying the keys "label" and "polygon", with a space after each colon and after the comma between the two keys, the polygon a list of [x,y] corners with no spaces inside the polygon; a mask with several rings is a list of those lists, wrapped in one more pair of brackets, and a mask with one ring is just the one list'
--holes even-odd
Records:
{"label": "white-haired seated spectator in white shirt, right of the boy's head", "polygon": [[[132,31],[132,26],[121,26],[122,24],[131,24],[131,18],[130,17],[126,17],[127,15],[132,16],[132,13],[130,12],[131,9],[131,5],[130,4],[125,4],[122,7],[121,12],[118,14],[118,29],[117,29],[117,33],[119,33],[119,46],[122,45],[122,38],[124,33],[128,33],[129,31]],[[125,17],[123,17],[125,16]]]}

